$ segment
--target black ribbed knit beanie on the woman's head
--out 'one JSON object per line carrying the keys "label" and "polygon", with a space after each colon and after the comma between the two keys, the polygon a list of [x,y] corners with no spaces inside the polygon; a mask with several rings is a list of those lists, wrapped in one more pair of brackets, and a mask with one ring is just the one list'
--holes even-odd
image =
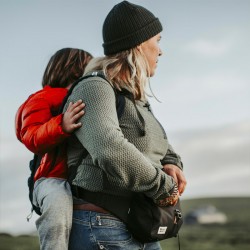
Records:
{"label": "black ribbed knit beanie on the woman's head", "polygon": [[123,1],[107,15],[103,28],[105,55],[132,49],[162,31],[162,25],[149,10]]}

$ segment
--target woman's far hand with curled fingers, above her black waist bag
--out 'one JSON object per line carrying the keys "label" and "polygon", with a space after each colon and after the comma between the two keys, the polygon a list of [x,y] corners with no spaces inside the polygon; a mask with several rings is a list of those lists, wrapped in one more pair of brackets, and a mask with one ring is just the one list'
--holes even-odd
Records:
{"label": "woman's far hand with curled fingers, above her black waist bag", "polygon": [[166,164],[163,166],[163,171],[167,175],[174,178],[174,181],[178,186],[179,195],[182,195],[187,185],[187,181],[182,170],[173,164]]}

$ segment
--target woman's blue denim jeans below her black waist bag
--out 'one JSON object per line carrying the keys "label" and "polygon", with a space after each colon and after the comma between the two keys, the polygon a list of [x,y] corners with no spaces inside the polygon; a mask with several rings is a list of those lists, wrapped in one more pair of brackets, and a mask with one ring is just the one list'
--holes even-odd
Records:
{"label": "woman's blue denim jeans below her black waist bag", "polygon": [[111,214],[75,210],[69,250],[160,250],[159,242],[142,244]]}

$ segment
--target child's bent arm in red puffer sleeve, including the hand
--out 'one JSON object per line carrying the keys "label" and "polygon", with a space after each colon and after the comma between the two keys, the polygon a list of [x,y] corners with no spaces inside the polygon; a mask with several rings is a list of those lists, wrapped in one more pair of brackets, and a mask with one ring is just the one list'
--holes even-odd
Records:
{"label": "child's bent arm in red puffer sleeve, including the hand", "polygon": [[53,117],[46,100],[30,100],[21,114],[21,142],[36,154],[50,151],[81,126],[77,121],[84,114],[83,108],[84,104],[79,100],[71,104],[65,114]]}

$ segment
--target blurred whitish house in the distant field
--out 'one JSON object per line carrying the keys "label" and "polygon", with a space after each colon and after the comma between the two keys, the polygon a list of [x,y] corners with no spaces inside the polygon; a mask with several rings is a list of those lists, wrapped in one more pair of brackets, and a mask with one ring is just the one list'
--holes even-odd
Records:
{"label": "blurred whitish house in the distant field", "polygon": [[184,221],[187,224],[225,224],[227,216],[218,211],[216,207],[206,205],[189,212]]}

